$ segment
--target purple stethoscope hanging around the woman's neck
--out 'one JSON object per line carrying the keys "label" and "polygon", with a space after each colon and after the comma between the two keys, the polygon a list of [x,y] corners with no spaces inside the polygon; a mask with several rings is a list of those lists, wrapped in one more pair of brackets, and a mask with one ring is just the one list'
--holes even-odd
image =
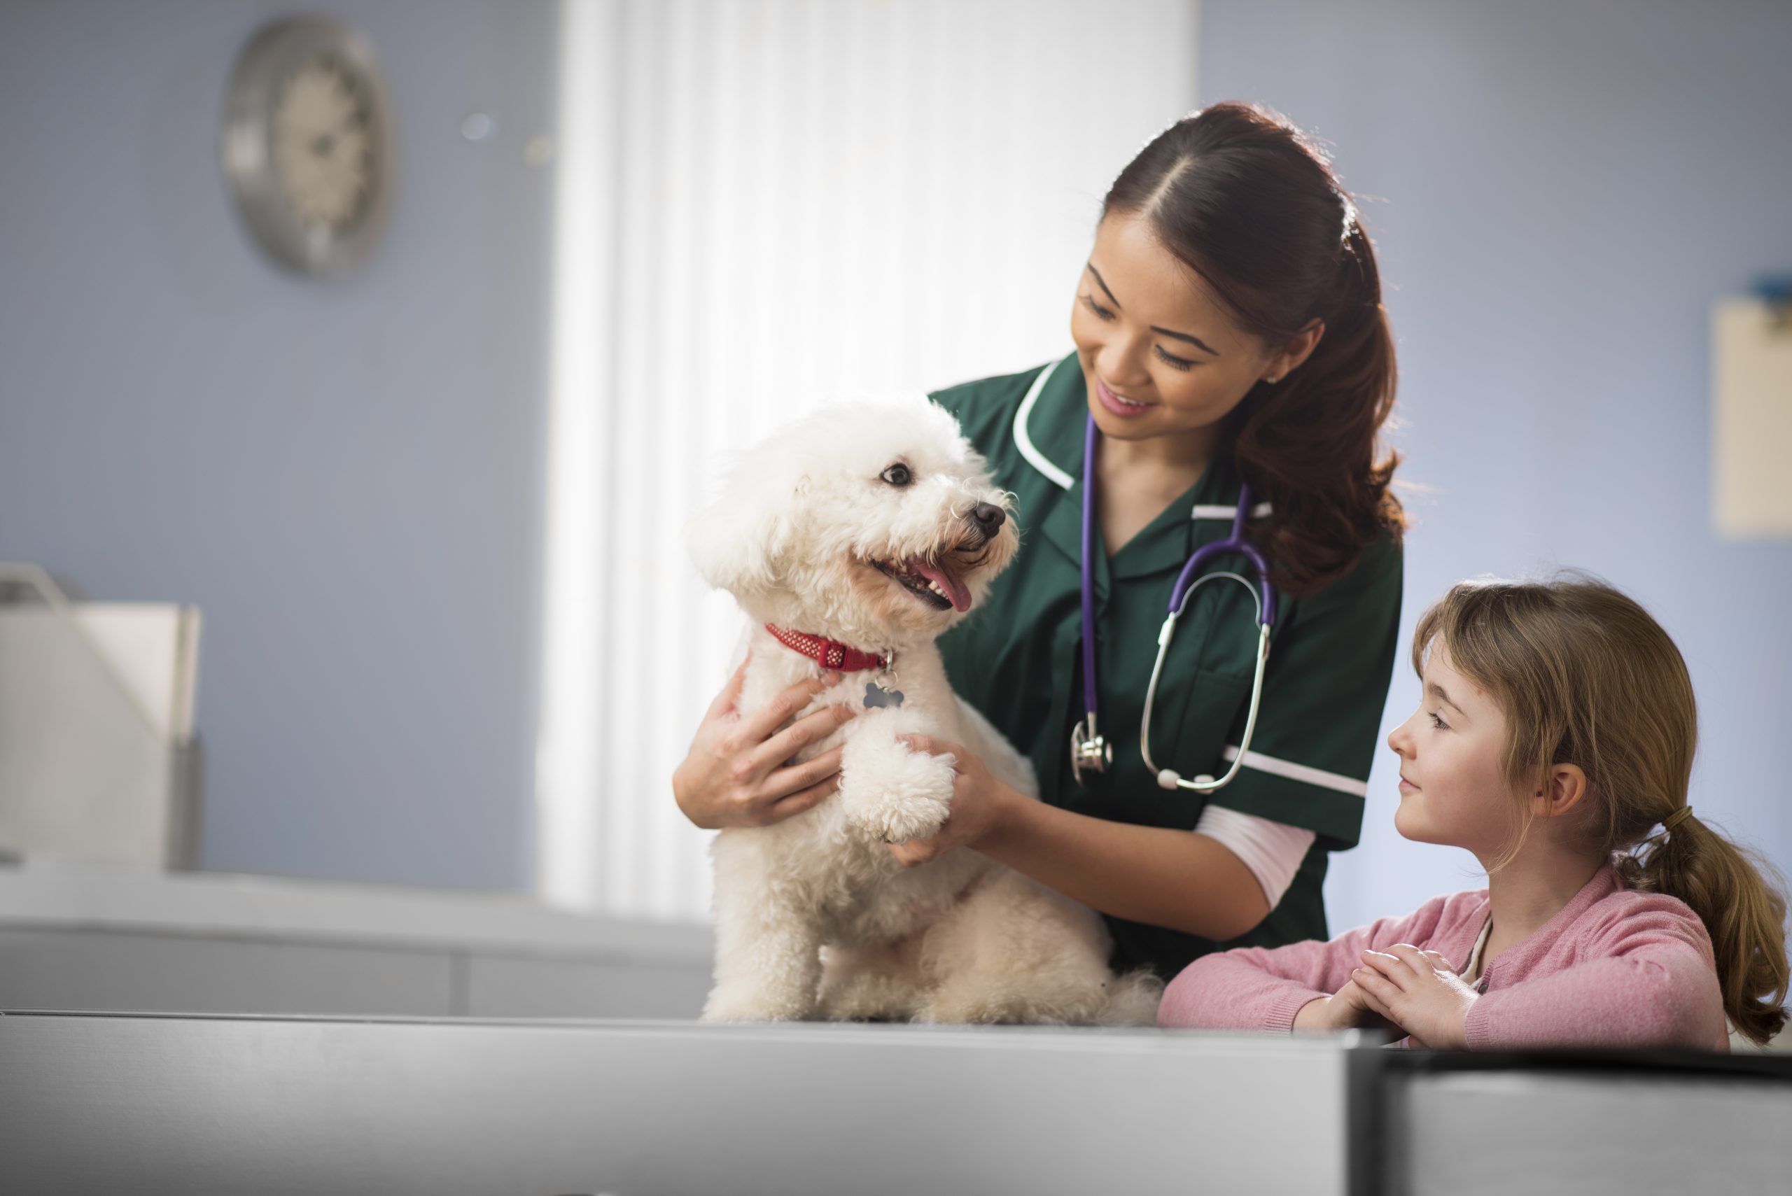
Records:
{"label": "purple stethoscope hanging around the woman's neck", "polygon": [[[1107,766],[1115,759],[1115,748],[1100,734],[1095,725],[1095,713],[1098,709],[1098,696],[1095,686],[1095,571],[1090,566],[1095,548],[1095,417],[1090,415],[1090,426],[1082,433],[1082,722],[1079,722],[1070,730],[1070,772],[1075,775],[1077,784],[1082,784],[1082,772],[1107,772]],[[1238,775],[1244,766],[1244,757],[1251,750],[1251,736],[1256,734],[1256,709],[1263,700],[1263,666],[1269,664],[1269,627],[1276,621],[1276,591],[1269,585],[1269,568],[1263,564],[1263,555],[1251,546],[1244,537],[1244,521],[1251,510],[1251,491],[1245,485],[1238,485],[1238,510],[1233,514],[1233,530],[1222,541],[1213,541],[1211,544],[1202,544],[1195,550],[1195,555],[1188,559],[1183,571],[1176,578],[1176,585],[1170,587],[1170,616],[1163,621],[1163,628],[1158,632],[1158,662],[1150,666],[1150,684],[1145,686],[1145,713],[1138,723],[1138,750],[1145,757],[1145,766],[1158,775],[1158,784],[1165,790],[1195,790],[1201,793],[1211,793],[1213,790],[1231,784],[1231,779]],[[1256,584],[1253,585],[1247,578],[1238,573],[1213,571],[1202,577],[1195,577],[1195,569],[1213,560],[1215,557],[1224,557],[1226,553],[1238,553],[1251,562],[1256,569]],[[1201,773],[1193,781],[1183,779],[1174,768],[1158,768],[1150,759],[1150,705],[1158,696],[1158,675],[1163,671],[1163,657],[1170,652],[1170,639],[1176,636],[1176,619],[1183,616],[1188,607],[1188,596],[1211,580],[1229,577],[1231,580],[1251,591],[1251,598],[1256,602],[1256,679],[1251,682],[1251,713],[1244,722],[1244,738],[1238,743],[1238,756],[1233,757],[1231,768],[1226,775],[1215,781],[1208,773]]]}

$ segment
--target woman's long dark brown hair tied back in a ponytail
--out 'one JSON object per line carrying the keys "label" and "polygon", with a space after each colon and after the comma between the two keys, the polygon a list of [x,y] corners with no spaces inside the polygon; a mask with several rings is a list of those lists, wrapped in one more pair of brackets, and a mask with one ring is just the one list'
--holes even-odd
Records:
{"label": "woman's long dark brown hair tied back in a ponytail", "polygon": [[1281,346],[1324,320],[1314,353],[1258,383],[1228,417],[1244,480],[1274,507],[1253,532],[1272,578],[1310,593],[1348,573],[1378,535],[1400,539],[1389,491],[1400,457],[1394,340],[1357,204],[1324,152],[1283,116],[1215,104],[1186,116],[1120,172],[1102,217],[1143,215],[1238,324]]}

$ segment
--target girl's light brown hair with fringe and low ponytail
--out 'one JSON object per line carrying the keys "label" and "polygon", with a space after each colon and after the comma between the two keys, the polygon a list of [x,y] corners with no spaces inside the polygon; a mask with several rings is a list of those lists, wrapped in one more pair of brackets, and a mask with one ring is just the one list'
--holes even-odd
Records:
{"label": "girl's light brown hair with fringe and low ponytail", "polygon": [[[1509,730],[1514,791],[1550,765],[1579,765],[1593,802],[1590,847],[1624,852],[1629,888],[1679,897],[1704,922],[1729,1022],[1767,1042],[1787,1022],[1787,899],[1772,867],[1686,809],[1699,714],[1679,648],[1636,602],[1564,573],[1548,582],[1462,582],[1425,612],[1412,666],[1441,643],[1450,666],[1493,695]],[[1659,829],[1672,820],[1674,829]],[[1495,868],[1511,861],[1516,834]]]}

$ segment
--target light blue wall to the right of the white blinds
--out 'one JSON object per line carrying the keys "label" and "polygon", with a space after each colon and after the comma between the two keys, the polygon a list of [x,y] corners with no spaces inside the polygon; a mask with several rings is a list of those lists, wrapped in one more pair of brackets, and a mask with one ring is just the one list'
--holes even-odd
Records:
{"label": "light blue wall to the right of the white blinds", "polygon": [[[1262,100],[1366,197],[1417,519],[1407,634],[1475,573],[1581,566],[1697,686],[1692,804],[1792,868],[1792,544],[1711,532],[1713,299],[1792,272],[1792,5],[1204,0],[1201,95]],[[1792,451],[1792,446],[1788,446]],[[1396,670],[1383,736],[1417,686]],[[1333,927],[1480,884],[1394,834],[1396,768],[1337,858]]]}

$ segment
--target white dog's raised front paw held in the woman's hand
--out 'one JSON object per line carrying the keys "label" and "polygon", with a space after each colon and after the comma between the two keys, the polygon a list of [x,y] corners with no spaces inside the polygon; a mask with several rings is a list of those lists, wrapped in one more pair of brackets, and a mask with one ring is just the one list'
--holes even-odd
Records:
{"label": "white dog's raised front paw held in the woman's hand", "polygon": [[896,736],[916,727],[896,713],[860,714],[840,752],[840,811],[885,843],[939,833],[952,813],[952,759]]}

